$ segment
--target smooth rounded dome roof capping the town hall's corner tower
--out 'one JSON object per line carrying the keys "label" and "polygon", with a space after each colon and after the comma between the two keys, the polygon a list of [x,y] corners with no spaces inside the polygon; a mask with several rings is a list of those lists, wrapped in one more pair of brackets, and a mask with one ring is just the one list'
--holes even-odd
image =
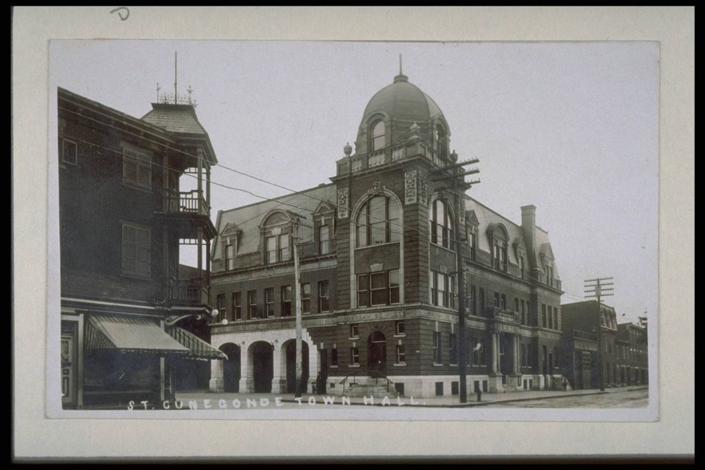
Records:
{"label": "smooth rounded dome roof capping the town hall's corner tower", "polygon": [[385,113],[389,118],[417,121],[419,124],[443,116],[436,102],[410,83],[406,75],[397,75],[391,85],[374,94],[364,109],[362,123],[367,123],[370,116],[378,112]]}

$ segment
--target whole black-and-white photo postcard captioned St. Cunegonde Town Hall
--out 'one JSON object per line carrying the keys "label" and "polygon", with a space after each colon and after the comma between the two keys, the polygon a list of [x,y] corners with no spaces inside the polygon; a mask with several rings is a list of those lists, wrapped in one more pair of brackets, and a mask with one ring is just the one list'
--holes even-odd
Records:
{"label": "whole black-and-white photo postcard captioned St. Cunegonde Town Hall", "polygon": [[657,419],[657,42],[49,52],[48,416]]}

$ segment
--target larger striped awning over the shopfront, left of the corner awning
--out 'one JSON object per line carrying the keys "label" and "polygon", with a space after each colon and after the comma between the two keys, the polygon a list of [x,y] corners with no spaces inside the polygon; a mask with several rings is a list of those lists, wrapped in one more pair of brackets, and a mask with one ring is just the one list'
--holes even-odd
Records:
{"label": "larger striped awning over the shopfront, left of the corner awning", "polygon": [[91,315],[87,321],[86,347],[122,352],[191,353],[154,320],[131,315]]}

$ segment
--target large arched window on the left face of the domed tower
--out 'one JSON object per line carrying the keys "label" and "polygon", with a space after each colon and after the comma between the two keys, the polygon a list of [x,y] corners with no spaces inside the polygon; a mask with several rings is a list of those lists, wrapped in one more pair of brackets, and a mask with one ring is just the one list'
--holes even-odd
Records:
{"label": "large arched window on the left face of the domed tower", "polygon": [[367,199],[357,215],[357,246],[398,241],[399,221],[399,207],[392,199],[386,196]]}

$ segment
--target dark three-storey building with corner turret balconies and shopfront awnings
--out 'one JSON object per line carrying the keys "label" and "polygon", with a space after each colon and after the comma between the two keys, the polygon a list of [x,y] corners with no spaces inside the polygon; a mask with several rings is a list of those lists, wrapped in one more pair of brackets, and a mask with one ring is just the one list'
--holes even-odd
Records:
{"label": "dark three-storey building with corner turret balconies and shopfront awnings", "polygon": [[66,408],[168,400],[190,359],[222,355],[195,318],[211,311],[209,259],[188,278],[179,264],[181,244],[207,248],[215,235],[216,156],[193,106],[152,108],[134,118],[58,90]]}

